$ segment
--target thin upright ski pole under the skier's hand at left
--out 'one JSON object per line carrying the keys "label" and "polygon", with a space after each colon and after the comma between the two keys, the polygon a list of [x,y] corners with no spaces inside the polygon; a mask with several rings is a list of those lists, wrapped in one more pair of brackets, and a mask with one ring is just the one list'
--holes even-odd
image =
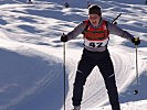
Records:
{"label": "thin upright ski pole under the skier's hand at left", "polygon": [[65,74],[66,74],[66,69],[65,69],[65,43],[63,43],[63,79],[64,79],[64,110],[65,110]]}

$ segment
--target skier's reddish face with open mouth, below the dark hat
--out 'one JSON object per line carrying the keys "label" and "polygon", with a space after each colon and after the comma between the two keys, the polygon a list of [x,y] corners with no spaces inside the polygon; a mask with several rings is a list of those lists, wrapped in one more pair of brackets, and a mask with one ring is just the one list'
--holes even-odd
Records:
{"label": "skier's reddish face with open mouth, below the dark hat", "polygon": [[98,14],[90,14],[88,15],[90,22],[92,23],[92,25],[97,26],[101,20],[101,15]]}

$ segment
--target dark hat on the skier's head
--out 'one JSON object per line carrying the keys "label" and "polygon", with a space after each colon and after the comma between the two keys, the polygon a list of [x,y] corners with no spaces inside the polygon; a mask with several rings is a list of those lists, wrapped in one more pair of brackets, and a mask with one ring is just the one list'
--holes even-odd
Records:
{"label": "dark hat on the skier's head", "polygon": [[101,7],[96,4],[91,4],[88,7],[88,14],[98,14],[101,16],[102,15]]}

